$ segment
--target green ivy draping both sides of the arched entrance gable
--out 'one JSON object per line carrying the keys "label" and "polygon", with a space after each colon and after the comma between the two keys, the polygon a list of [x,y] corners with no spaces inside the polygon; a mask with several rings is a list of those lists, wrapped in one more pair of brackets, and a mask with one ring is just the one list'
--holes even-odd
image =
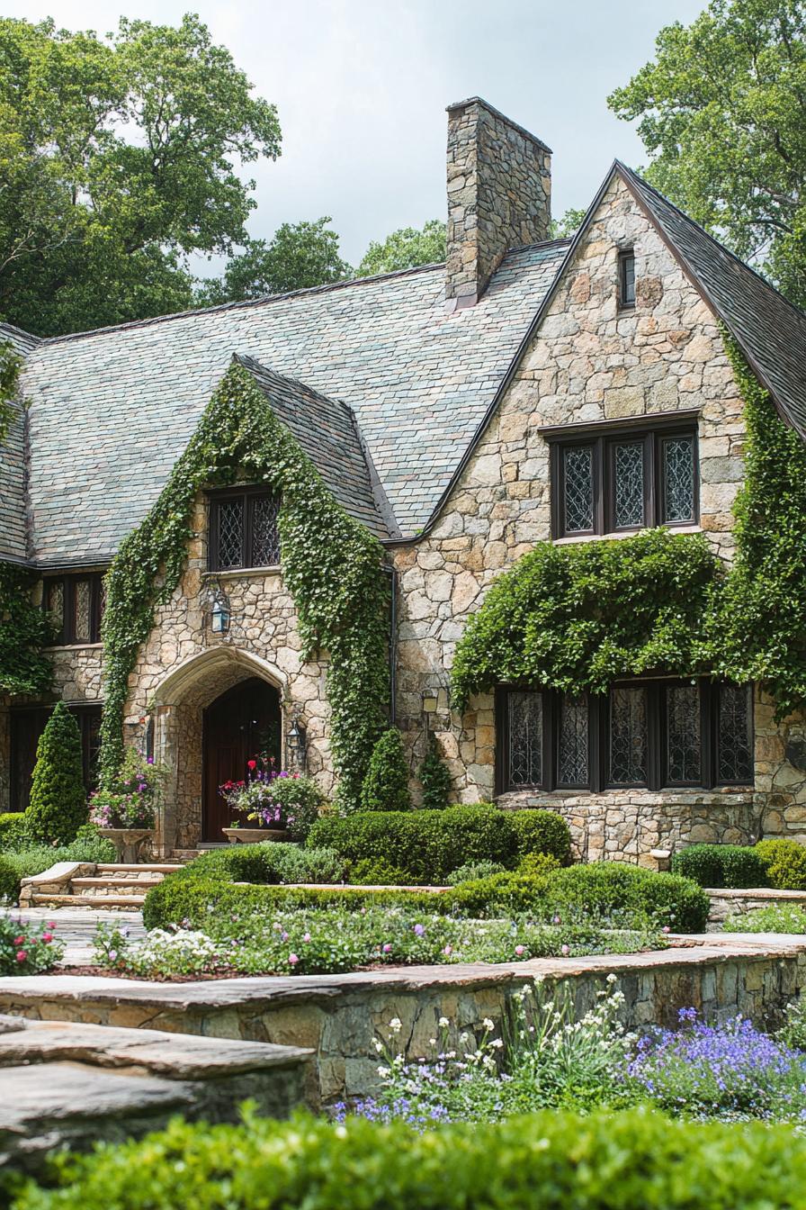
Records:
{"label": "green ivy draping both sides of the arched entrance gable", "polygon": [[179,583],[196,495],[236,479],[267,484],[282,497],[285,583],[307,653],[324,649],[330,657],[331,750],[340,805],[352,809],[389,692],[383,548],[336,502],[238,363],[227,370],[160,499],[123,541],[106,575],[102,778],[114,779],[120,768],[128,678],[153,627],[155,607]]}

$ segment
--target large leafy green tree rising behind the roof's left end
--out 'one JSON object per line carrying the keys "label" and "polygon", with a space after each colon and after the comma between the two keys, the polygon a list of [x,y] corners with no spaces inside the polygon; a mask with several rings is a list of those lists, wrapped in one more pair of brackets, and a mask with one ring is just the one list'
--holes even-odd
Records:
{"label": "large leafy green tree rising behind the roof's left end", "polygon": [[198,17],[116,35],[0,19],[0,316],[51,335],[189,306],[191,253],[247,240],[273,105]]}

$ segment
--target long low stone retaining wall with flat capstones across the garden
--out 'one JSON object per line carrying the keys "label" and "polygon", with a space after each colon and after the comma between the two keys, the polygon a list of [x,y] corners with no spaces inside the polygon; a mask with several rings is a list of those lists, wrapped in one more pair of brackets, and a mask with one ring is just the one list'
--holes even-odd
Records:
{"label": "long low stone retaining wall with flat capstones across the garden", "polygon": [[481,1036],[485,1018],[500,1031],[512,995],[537,976],[570,983],[575,1013],[597,1003],[613,970],[624,991],[625,1024],[673,1026],[694,1006],[709,1019],[742,1014],[777,1021],[806,984],[806,938],[732,935],[678,939],[688,947],[654,953],[535,960],[498,966],[412,967],[348,975],[149,984],[109,978],[33,975],[0,979],[0,1012],[37,1020],[88,1021],[208,1037],[274,1042],[317,1051],[307,1099],[313,1105],[365,1096],[378,1084],[373,1041],[402,1022],[408,1058],[430,1051],[439,1019],[451,1042]]}

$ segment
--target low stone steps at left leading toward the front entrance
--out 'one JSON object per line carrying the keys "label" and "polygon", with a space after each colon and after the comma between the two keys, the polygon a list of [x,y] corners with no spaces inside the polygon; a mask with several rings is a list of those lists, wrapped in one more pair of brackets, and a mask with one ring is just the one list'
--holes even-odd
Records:
{"label": "low stone steps at left leading toward the front entrance", "polygon": [[50,870],[23,878],[21,908],[128,908],[138,910],[149,891],[178,862],[143,865],[94,865],[88,862],[59,862]]}

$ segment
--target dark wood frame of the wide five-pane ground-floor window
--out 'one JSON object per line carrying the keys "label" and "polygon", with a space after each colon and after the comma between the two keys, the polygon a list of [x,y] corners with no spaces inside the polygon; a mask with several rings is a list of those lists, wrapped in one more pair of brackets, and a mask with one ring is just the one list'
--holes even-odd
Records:
{"label": "dark wood frame of the wide five-pane ground-floor window", "polygon": [[[718,776],[719,770],[719,695],[721,682],[698,679],[695,684],[700,690],[700,770],[697,780],[674,780],[667,777],[669,764],[668,726],[666,718],[666,690],[677,686],[690,686],[691,679],[657,678],[644,680],[616,681],[613,687],[624,686],[642,688],[646,693],[646,779],[644,782],[615,783],[609,777],[610,764],[610,695],[586,695],[587,720],[587,766],[586,783],[562,783],[557,771],[559,764],[559,716],[562,693],[555,690],[534,690],[523,685],[501,685],[495,691],[495,794],[508,794],[517,790],[538,790],[540,793],[578,791],[601,794],[605,790],[675,790],[715,789],[719,786],[748,786],[750,779],[729,779]],[[543,734],[541,768],[543,777],[535,785],[514,785],[509,776],[509,695],[517,692],[540,692],[543,697]],[[753,699],[750,686],[748,695],[748,732],[750,761],[753,759]]]}

